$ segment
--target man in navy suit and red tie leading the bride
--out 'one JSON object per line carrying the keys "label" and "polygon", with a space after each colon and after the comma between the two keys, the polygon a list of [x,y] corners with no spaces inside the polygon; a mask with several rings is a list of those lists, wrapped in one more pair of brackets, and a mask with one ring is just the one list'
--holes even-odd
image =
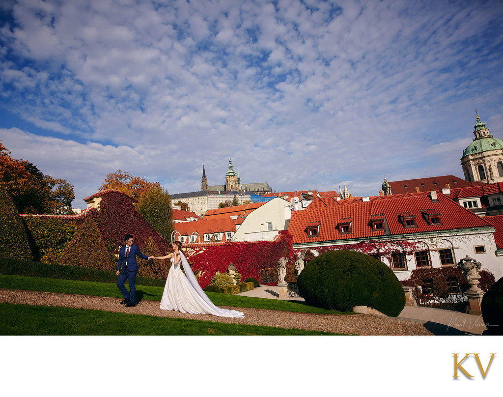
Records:
{"label": "man in navy suit and red tie leading the bride", "polygon": [[[119,250],[119,262],[117,262],[117,275],[119,276],[117,287],[119,287],[122,296],[124,296],[121,304],[125,304],[126,307],[134,307],[136,306],[136,273],[138,272],[136,255],[142,259],[150,260],[150,258],[143,255],[138,246],[133,245],[133,236],[131,234],[126,234],[124,240],[126,241],[126,245]],[[129,280],[129,292],[124,286],[126,280]]]}

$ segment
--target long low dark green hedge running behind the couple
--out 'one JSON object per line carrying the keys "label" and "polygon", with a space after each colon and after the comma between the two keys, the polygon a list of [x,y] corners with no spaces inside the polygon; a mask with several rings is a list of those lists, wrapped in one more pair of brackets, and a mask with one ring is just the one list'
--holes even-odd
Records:
{"label": "long low dark green hedge running behind the couple", "polygon": [[[116,283],[117,275],[98,269],[83,268],[78,266],[63,266],[54,263],[41,263],[13,258],[0,258],[0,273],[25,277],[46,277],[61,280],[96,281],[100,283]],[[139,285],[163,287],[165,280],[156,280],[148,277],[136,277]]]}

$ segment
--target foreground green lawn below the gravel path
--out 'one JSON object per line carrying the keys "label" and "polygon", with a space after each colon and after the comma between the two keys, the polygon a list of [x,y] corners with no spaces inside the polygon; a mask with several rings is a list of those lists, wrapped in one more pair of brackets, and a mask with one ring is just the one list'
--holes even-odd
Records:
{"label": "foreground green lawn below the gravel path", "polygon": [[0,303],[0,316],[0,335],[344,335],[12,303]]}

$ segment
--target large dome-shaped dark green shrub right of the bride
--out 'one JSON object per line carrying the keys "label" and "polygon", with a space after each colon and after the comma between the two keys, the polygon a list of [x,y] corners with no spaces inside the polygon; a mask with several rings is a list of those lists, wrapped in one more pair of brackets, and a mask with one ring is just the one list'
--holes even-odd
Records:
{"label": "large dome-shaped dark green shrub right of the bride", "polygon": [[329,310],[368,306],[396,317],[405,306],[403,288],[393,271],[355,251],[328,251],[317,256],[302,270],[297,283],[308,304]]}

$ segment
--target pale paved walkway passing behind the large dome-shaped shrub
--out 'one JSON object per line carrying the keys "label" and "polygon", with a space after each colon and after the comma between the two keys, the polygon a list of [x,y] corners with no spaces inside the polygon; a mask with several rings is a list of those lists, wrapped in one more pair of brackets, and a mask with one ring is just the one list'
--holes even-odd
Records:
{"label": "pale paved walkway passing behind the large dome-shaped shrub", "polygon": [[[239,295],[279,299],[278,291],[277,286],[261,285],[251,291],[241,292]],[[292,297],[289,300],[304,299]],[[481,315],[430,307],[405,306],[398,318],[421,321],[436,335],[482,335],[487,329]]]}

